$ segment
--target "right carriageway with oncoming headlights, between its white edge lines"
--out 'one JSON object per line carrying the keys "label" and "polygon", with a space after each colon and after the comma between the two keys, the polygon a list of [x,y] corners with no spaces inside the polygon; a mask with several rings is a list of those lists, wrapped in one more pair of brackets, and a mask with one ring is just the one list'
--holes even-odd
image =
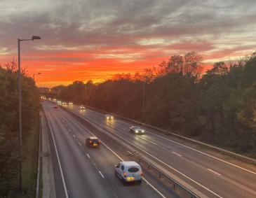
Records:
{"label": "right carriageway with oncoming headlights, between its white edge lines", "polygon": [[[69,107],[68,107],[69,108]],[[207,185],[207,188],[214,192],[220,192],[222,197],[255,197],[255,174],[252,174],[243,169],[238,169],[230,164],[216,160],[195,150],[191,150],[177,143],[163,139],[161,136],[154,136],[147,134],[144,142],[140,138],[135,138],[133,134],[128,133],[129,123],[121,120],[114,120],[114,122],[106,122],[104,115],[101,113],[86,109],[80,111],[77,106],[72,107],[74,111],[81,113],[86,118],[93,119],[99,125],[118,132],[119,135],[129,139],[140,148],[154,153],[154,155],[161,158],[161,160],[171,164],[176,169],[182,170],[186,175],[194,178],[195,181]],[[112,123],[111,123],[112,122]],[[125,124],[124,124],[125,123]],[[151,129],[147,129],[151,132]],[[154,143],[150,143],[154,142]],[[146,143],[147,142],[147,143]],[[175,153],[180,156],[175,156]],[[174,157],[175,156],[175,157]],[[173,158],[174,157],[174,158]],[[213,170],[216,173],[214,174]]]}

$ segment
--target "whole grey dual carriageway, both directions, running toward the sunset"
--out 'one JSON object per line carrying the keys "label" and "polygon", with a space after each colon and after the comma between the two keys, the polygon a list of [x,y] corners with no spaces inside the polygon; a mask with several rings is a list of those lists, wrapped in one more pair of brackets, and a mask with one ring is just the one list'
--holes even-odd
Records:
{"label": "whole grey dual carriageway, both directions, running toward the sunset", "polygon": [[[145,127],[144,135],[131,134],[134,123],[106,120],[90,108],[54,105],[43,101],[58,197],[183,197],[147,169],[141,185],[123,185],[114,165],[132,153],[147,157],[200,197],[256,197],[256,168],[250,164],[206,153],[151,128]],[[92,135],[102,140],[99,149],[85,146]]]}

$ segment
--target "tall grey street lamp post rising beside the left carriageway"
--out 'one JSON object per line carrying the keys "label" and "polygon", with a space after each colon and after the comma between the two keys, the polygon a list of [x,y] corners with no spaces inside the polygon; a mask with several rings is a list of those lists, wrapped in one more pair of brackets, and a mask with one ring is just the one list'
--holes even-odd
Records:
{"label": "tall grey street lamp post rising beside the left carriageway", "polygon": [[21,41],[34,41],[41,39],[40,36],[32,36],[30,39],[18,38],[18,93],[19,93],[19,132],[20,132],[20,191],[22,191],[22,120],[21,120],[21,74],[20,74],[20,42]]}

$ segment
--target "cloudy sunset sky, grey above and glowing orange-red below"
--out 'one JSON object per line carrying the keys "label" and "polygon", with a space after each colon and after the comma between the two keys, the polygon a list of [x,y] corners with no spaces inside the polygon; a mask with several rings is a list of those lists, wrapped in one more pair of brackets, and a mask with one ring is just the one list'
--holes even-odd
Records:
{"label": "cloudy sunset sky, grey above and glowing orange-red below", "polygon": [[17,59],[39,86],[100,82],[195,51],[206,66],[256,50],[255,0],[0,0],[0,64]]}

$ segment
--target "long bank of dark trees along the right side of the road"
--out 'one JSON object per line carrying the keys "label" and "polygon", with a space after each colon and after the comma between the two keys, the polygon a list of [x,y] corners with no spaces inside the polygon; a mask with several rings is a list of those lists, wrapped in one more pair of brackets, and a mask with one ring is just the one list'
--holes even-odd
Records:
{"label": "long bank of dark trees along the right side of the road", "polygon": [[[144,112],[142,110],[144,86]],[[203,71],[196,52],[173,55],[144,73],[103,83],[53,87],[58,99],[86,104],[256,157],[256,54]]]}

